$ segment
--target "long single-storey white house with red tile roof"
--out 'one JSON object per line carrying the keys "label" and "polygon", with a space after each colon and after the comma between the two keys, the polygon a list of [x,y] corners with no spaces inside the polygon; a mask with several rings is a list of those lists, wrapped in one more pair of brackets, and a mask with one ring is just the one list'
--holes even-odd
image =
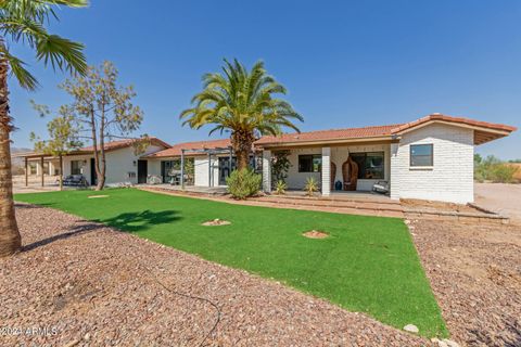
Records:
{"label": "long single-storey white house with red tile roof", "polygon": [[[356,184],[350,189],[356,191],[370,191],[374,183],[386,181],[394,200],[469,203],[473,201],[474,146],[514,130],[500,124],[432,114],[407,124],[263,137],[253,145],[251,165],[262,172],[266,193],[274,183],[272,157],[288,151],[290,190],[302,190],[307,178],[314,177],[321,194],[328,196],[336,193],[339,184],[341,189],[350,185],[347,177],[355,176]],[[139,157],[128,141],[107,143],[106,150],[107,183],[143,183],[148,176],[156,176],[163,183],[224,187],[236,168],[229,139],[171,146],[155,139]],[[91,147],[67,155],[64,175],[82,174],[92,183],[92,162]],[[187,171],[181,170],[181,162]],[[356,165],[350,166],[348,162]]]}

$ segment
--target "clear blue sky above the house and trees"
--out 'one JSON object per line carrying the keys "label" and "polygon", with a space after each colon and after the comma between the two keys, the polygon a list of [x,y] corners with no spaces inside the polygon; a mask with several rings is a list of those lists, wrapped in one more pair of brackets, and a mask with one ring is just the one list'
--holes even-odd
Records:
{"label": "clear blue sky above the house and trees", "polygon": [[[521,1],[92,0],[61,10],[52,30],[86,44],[89,64],[113,61],[145,112],[142,132],[167,142],[207,138],[179,113],[223,57],[262,59],[304,116],[302,130],[414,120],[430,113],[521,126]],[[11,80],[15,146],[46,123],[29,100],[59,106],[65,77],[21,54],[42,87]],[[478,147],[521,157],[520,131]]]}

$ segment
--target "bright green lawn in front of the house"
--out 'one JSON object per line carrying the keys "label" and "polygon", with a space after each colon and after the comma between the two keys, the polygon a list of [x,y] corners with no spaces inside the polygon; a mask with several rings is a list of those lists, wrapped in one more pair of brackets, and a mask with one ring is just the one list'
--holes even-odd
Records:
{"label": "bright green lawn in front of the house", "polygon": [[[132,232],[164,245],[277,279],[423,336],[447,336],[406,226],[397,218],[240,206],[148,193],[106,190],[18,194],[46,205]],[[211,219],[231,226],[203,227]],[[301,234],[316,229],[323,240]]]}

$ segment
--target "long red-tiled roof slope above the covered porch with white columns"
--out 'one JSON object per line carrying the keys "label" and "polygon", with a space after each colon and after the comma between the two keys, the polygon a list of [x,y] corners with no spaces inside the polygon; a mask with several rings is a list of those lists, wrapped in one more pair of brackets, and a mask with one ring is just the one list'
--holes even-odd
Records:
{"label": "long red-tiled roof slope above the covered porch with white columns", "polygon": [[309,132],[284,133],[280,137],[263,137],[255,142],[256,146],[276,146],[289,144],[323,143],[345,140],[377,140],[392,137],[392,130],[402,124],[372,126],[364,128],[331,129]]}

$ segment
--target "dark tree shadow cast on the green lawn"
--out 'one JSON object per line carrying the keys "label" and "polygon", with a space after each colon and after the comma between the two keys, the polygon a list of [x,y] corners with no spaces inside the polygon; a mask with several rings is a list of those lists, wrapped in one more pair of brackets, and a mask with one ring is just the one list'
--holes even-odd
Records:
{"label": "dark tree shadow cast on the green lawn", "polygon": [[166,224],[180,220],[181,217],[175,210],[151,211],[149,209],[140,213],[125,213],[118,216],[98,219],[96,221],[117,228],[123,231],[137,232],[150,229],[153,226]]}

